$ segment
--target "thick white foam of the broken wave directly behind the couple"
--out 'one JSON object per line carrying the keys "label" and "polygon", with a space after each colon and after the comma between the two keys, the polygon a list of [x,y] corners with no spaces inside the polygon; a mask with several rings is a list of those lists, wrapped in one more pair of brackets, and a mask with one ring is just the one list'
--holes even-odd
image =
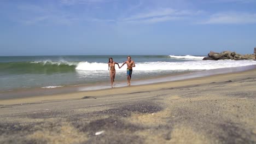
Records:
{"label": "thick white foam of the broken wave directly behind the couple", "polygon": [[[136,62],[135,62],[136,63]],[[119,63],[121,65],[122,63]],[[251,60],[219,60],[219,61],[184,61],[184,62],[143,62],[136,63],[136,67],[133,70],[139,71],[152,71],[152,70],[207,70],[207,69],[218,69],[218,68],[231,68],[231,67],[242,67],[246,65],[254,65],[256,61]],[[79,62],[76,70],[86,71],[105,71],[108,70],[107,63],[89,63]],[[126,64],[119,69],[118,65],[115,65],[115,70],[126,70]]]}

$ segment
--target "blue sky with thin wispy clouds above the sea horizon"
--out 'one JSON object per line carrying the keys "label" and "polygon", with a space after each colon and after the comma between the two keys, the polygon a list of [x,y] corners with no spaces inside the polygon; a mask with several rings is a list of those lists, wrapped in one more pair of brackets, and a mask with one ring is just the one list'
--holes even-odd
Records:
{"label": "blue sky with thin wispy clouds above the sea horizon", "polygon": [[0,1],[0,56],[253,53],[256,0]]}

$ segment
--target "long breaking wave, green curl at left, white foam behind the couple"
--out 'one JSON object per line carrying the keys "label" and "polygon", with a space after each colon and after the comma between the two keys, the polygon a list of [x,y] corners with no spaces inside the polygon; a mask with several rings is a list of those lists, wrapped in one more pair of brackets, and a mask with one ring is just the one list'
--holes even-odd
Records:
{"label": "long breaking wave, green curl at left, white foam behind the couple", "polygon": [[[188,58],[188,57],[187,57]],[[199,57],[197,57],[199,59]],[[242,67],[246,65],[254,65],[256,61],[251,60],[220,60],[220,61],[183,61],[183,62],[140,62],[136,63],[134,70],[152,71],[152,70],[206,70],[229,67]],[[121,66],[122,63],[119,63]],[[121,69],[115,65],[115,69],[126,70],[126,65]],[[66,61],[38,61],[38,62],[8,62],[0,63],[0,73],[5,74],[24,74],[24,73],[67,73],[77,70],[82,71],[107,71],[107,63],[97,62],[66,62]]]}

